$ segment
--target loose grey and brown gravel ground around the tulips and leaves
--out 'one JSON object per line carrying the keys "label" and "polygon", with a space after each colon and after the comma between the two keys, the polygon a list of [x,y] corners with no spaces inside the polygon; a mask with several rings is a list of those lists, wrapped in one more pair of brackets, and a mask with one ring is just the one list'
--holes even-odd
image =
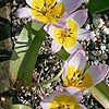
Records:
{"label": "loose grey and brown gravel ground around the tulips and leaves", "polygon": [[[84,3],[88,0],[83,0]],[[12,4],[12,37],[16,39],[17,35],[22,31],[23,25],[25,25],[28,20],[26,19],[16,19],[15,11],[17,8],[27,7],[24,0],[14,0]],[[86,29],[93,29],[96,34],[90,40],[82,41],[88,63],[99,64],[106,63],[109,64],[109,11],[95,14],[89,17],[84,25]],[[49,36],[44,40],[39,56],[36,61],[33,81],[36,83],[44,82],[52,78],[61,70],[63,60],[59,59],[58,56],[51,55],[50,52],[51,38]],[[109,85],[109,74],[106,77],[106,83]],[[22,89],[19,90],[8,90],[7,93],[0,95],[0,109],[3,109],[5,104],[24,104],[33,107],[34,109],[41,109],[39,101],[51,92],[56,89],[58,85],[62,85],[61,78],[49,83],[43,86],[33,86],[32,90],[29,87],[22,86]],[[84,104],[88,109],[105,109],[89,93],[84,95],[81,104]]]}

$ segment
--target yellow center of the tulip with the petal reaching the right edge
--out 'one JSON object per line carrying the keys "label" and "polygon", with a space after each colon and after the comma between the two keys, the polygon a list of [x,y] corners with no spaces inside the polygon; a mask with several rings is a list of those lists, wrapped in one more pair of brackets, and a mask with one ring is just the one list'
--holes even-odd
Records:
{"label": "yellow center of the tulip with the petal reaching the right edge", "polygon": [[68,66],[68,74],[65,78],[63,78],[63,83],[65,86],[74,86],[80,89],[84,89],[94,85],[92,75],[89,75],[88,73],[84,73],[82,70],[75,71],[74,69],[75,68],[72,65]]}

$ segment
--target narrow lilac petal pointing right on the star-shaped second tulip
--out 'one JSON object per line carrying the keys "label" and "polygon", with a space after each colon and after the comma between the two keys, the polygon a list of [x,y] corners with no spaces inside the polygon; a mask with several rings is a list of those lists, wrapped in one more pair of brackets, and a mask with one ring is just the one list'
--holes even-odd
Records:
{"label": "narrow lilac petal pointing right on the star-shaped second tulip", "polygon": [[85,40],[85,39],[90,39],[93,37],[95,37],[95,33],[94,32],[90,32],[90,31],[87,31],[87,29],[84,29],[84,28],[80,28],[78,29],[78,37],[77,39],[78,40]]}

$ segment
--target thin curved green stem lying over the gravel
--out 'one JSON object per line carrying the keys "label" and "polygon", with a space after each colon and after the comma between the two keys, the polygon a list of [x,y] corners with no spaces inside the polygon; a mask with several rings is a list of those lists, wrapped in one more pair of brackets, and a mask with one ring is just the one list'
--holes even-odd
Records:
{"label": "thin curved green stem lying over the gravel", "polygon": [[45,81],[45,82],[40,82],[40,83],[38,83],[38,84],[34,83],[34,85],[36,85],[36,86],[47,85],[47,84],[49,84],[49,83],[51,83],[51,82],[58,80],[58,78],[60,77],[60,75],[62,74],[62,72],[63,72],[63,69],[62,69],[53,78],[48,80],[48,81]]}

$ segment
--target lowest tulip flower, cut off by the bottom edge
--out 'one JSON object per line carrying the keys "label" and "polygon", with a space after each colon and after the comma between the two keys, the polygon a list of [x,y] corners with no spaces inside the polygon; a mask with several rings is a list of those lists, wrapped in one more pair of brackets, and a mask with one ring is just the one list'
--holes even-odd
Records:
{"label": "lowest tulip flower, cut off by the bottom edge", "polygon": [[65,90],[56,90],[41,100],[43,109],[86,109],[78,101],[83,98],[77,88],[68,87]]}

